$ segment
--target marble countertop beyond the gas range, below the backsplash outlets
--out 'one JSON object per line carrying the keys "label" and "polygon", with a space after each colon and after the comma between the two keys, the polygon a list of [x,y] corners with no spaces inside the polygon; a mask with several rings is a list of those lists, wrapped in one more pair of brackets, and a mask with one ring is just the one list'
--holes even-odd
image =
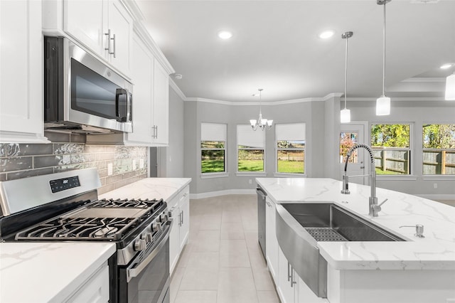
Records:
{"label": "marble countertop beyond the gas range, below the backsplash outlets", "polygon": [[103,193],[99,198],[163,199],[170,201],[178,191],[190,184],[191,178],[145,178]]}

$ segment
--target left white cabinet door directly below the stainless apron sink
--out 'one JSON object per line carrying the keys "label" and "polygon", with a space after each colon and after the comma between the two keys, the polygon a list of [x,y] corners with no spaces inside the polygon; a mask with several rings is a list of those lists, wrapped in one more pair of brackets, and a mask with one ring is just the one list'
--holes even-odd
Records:
{"label": "left white cabinet door directly below the stainless apron sink", "polygon": [[279,270],[276,281],[278,281],[277,288],[280,298],[282,299],[282,303],[294,303],[297,285],[291,285],[291,280],[295,279],[296,275],[289,262],[287,262],[281,248],[278,249],[278,262]]}

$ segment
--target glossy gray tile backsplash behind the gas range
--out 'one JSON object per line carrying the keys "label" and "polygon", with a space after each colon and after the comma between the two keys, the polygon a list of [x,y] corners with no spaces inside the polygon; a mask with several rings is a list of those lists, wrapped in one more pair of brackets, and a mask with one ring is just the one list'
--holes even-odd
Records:
{"label": "glossy gray tile backsplash behind the gas range", "polygon": [[45,137],[52,143],[0,143],[0,181],[96,167],[101,194],[147,177],[147,147],[85,144],[84,134],[45,132]]}

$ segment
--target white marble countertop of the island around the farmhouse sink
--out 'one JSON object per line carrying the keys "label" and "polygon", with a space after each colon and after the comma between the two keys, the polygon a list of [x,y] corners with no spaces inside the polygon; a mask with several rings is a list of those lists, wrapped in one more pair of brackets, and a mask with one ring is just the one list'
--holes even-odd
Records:
{"label": "white marble countertop of the island around the farmhouse sink", "polygon": [[[368,216],[370,186],[334,179],[257,178],[274,203],[333,202],[388,230],[406,242],[319,242],[321,255],[338,270],[455,270],[455,208],[407,193],[376,188],[378,202],[386,198],[378,217]],[[414,236],[424,225],[425,238]]]}

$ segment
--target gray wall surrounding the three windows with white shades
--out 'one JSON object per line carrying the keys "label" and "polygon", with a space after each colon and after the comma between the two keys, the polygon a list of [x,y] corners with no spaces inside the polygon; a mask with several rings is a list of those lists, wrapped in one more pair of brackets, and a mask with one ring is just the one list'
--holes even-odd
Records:
{"label": "gray wall surrounding the three windows with white shades", "polygon": [[[331,99],[333,104],[338,104]],[[244,190],[255,188],[255,176],[236,176],[237,171],[237,124],[249,124],[259,114],[257,105],[224,105],[211,102],[184,102],[185,104],[185,170],[186,177],[193,178],[191,193],[209,193],[213,191]],[[337,109],[338,110],[338,109]],[[306,123],[306,167],[307,176],[323,177],[324,166],[330,164],[324,161],[323,149],[326,141],[325,132],[325,102],[299,102],[281,105],[263,105],[262,115],[273,119],[274,124],[305,122]],[[200,123],[214,122],[228,124],[227,171],[228,177],[200,178]],[[258,130],[260,132],[260,130]],[[266,132],[266,171],[267,177],[273,177],[275,172],[274,128]],[[335,158],[334,158],[335,159]],[[249,180],[252,179],[252,184]]]}

